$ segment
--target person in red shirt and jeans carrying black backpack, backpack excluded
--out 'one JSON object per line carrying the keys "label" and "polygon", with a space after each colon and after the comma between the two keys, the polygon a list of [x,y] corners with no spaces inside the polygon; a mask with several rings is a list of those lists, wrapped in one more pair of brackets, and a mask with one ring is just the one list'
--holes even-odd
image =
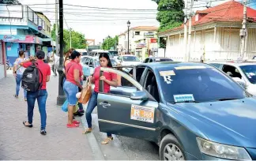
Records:
{"label": "person in red shirt and jeans carrying black backpack, backpack excluded", "polygon": [[46,135],[46,121],[47,121],[47,113],[46,113],[46,102],[47,102],[47,82],[50,80],[51,76],[51,67],[43,62],[43,58],[45,53],[43,51],[36,51],[36,58],[29,58],[28,60],[21,62],[20,66],[24,66],[24,68],[28,68],[28,66],[32,66],[32,60],[36,60],[37,69],[40,70],[42,76],[40,74],[40,82],[42,82],[42,87],[37,92],[29,92],[27,93],[28,98],[28,121],[23,122],[23,124],[27,127],[32,127],[33,114],[35,102],[37,99],[38,107],[40,110],[41,117],[41,130],[40,133],[42,135]]}

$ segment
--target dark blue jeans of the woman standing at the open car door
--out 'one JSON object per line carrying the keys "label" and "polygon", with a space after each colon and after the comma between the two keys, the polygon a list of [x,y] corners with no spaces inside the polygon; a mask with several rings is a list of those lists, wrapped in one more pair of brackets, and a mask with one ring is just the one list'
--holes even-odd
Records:
{"label": "dark blue jeans of the woman standing at the open car door", "polygon": [[[92,92],[91,98],[88,101],[87,109],[85,111],[85,118],[87,120],[88,128],[92,128],[92,110],[97,106],[98,93]],[[107,137],[111,137],[111,133],[107,133]]]}

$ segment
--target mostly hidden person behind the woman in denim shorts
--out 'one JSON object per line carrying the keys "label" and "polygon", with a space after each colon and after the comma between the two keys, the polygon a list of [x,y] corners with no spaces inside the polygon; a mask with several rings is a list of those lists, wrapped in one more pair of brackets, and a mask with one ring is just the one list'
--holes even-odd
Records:
{"label": "mostly hidden person behind the woman in denim shorts", "polygon": [[[68,52],[66,52],[65,60],[64,60],[64,70],[66,70],[66,66],[70,63],[70,56],[71,56],[73,51],[75,51],[75,50],[73,48],[70,48],[70,50]],[[80,63],[79,63],[79,66],[81,66]],[[81,68],[83,69],[82,66],[81,66]],[[64,73],[65,73],[65,71],[64,71]],[[64,82],[65,82],[65,80],[63,80],[63,84],[64,84]],[[82,78],[81,78],[81,84],[83,85],[83,79]],[[78,92],[81,92],[81,88],[78,88]],[[84,113],[85,113],[85,110],[84,110],[84,107],[83,107],[82,103],[78,103],[78,107],[79,107],[79,109],[73,115],[74,116],[83,116]]]}

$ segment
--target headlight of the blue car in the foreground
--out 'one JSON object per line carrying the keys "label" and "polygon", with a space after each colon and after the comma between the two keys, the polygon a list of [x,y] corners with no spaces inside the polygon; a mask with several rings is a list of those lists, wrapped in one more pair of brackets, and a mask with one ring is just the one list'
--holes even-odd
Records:
{"label": "headlight of the blue car in the foreground", "polygon": [[197,137],[200,151],[205,155],[211,155],[222,159],[251,160],[245,148],[226,144],[214,143]]}

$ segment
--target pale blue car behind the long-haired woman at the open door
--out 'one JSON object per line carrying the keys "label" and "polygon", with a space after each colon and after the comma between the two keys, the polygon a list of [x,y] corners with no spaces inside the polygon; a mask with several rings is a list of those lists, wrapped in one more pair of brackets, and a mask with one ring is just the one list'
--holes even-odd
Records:
{"label": "pale blue car behind the long-haired woman at the open door", "polygon": [[[111,58],[111,64],[112,66],[117,66],[117,62],[115,62],[114,58]],[[87,57],[85,58],[85,61],[81,63],[81,66],[83,66],[84,80],[86,80],[86,77],[92,75],[94,69],[97,66],[100,66],[99,58]]]}

